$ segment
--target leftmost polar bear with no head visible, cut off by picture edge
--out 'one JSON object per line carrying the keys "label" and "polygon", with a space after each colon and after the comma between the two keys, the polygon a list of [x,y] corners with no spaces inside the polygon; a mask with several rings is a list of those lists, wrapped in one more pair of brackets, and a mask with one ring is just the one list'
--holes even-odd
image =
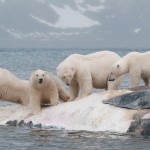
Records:
{"label": "leftmost polar bear with no head visible, cut off by picture edge", "polygon": [[29,81],[20,80],[7,69],[0,68],[0,100],[29,104]]}

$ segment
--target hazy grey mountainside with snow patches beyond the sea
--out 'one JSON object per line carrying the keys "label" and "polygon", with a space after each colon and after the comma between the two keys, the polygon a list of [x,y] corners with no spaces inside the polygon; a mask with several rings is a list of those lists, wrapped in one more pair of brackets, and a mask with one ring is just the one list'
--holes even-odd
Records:
{"label": "hazy grey mountainside with snow patches beyond the sea", "polygon": [[150,0],[0,0],[0,47],[149,48]]}

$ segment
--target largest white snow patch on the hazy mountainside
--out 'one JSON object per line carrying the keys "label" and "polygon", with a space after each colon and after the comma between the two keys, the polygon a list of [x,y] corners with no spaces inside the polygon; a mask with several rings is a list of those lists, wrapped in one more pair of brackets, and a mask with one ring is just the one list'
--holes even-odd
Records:
{"label": "largest white snow patch on the hazy mountainside", "polygon": [[59,8],[54,5],[50,7],[58,14],[59,19],[55,24],[39,18],[35,15],[30,15],[33,19],[38,22],[54,28],[86,28],[96,25],[100,25],[98,21],[94,21],[87,16],[83,15],[79,11],[73,10],[70,6],[65,5],[64,8]]}

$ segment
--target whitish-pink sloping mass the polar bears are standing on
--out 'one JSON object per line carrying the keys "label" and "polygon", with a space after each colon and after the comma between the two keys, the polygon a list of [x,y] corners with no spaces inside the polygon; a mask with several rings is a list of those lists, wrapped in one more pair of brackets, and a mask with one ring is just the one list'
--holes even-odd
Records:
{"label": "whitish-pink sloping mass the polar bears are standing on", "polygon": [[125,94],[130,91],[104,91],[84,99],[61,103],[54,107],[43,108],[42,112],[32,115],[28,107],[0,107],[0,125],[7,121],[32,121],[34,125],[55,126],[66,130],[127,132],[136,110],[129,110],[103,104],[102,100]]}

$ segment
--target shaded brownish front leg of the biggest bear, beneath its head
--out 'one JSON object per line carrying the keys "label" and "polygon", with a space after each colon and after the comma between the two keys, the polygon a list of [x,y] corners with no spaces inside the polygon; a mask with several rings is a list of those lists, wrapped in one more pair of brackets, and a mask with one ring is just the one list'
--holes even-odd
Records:
{"label": "shaded brownish front leg of the biggest bear, beneath its head", "polygon": [[77,83],[72,82],[71,85],[69,86],[69,91],[70,91],[70,100],[75,100],[78,97],[79,93],[79,86]]}

